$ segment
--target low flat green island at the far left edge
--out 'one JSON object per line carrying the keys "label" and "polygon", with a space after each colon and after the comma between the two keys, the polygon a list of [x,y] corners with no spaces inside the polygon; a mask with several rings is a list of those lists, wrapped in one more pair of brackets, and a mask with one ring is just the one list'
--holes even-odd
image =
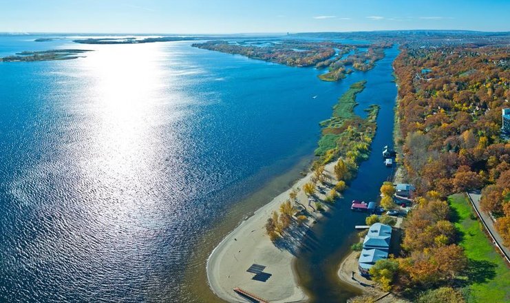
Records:
{"label": "low flat green island at the far left edge", "polygon": [[34,61],[56,61],[81,58],[78,54],[91,52],[92,50],[41,50],[18,52],[14,56],[0,58],[0,62],[34,62]]}

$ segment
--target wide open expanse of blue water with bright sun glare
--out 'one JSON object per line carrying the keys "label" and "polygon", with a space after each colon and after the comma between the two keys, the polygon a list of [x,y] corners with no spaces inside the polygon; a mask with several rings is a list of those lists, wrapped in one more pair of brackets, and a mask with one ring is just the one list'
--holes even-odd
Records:
{"label": "wide open expanse of blue water with bright sun glare", "polygon": [[94,52],[0,63],[0,301],[178,301],[204,231],[311,158],[318,122],[365,77],[189,42],[35,38],[0,36],[0,56]]}

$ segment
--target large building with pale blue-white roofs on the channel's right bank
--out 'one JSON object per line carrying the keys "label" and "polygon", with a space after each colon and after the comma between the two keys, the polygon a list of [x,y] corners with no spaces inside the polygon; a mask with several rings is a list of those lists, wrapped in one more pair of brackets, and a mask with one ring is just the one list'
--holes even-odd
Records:
{"label": "large building with pale blue-white roofs on the channel's right bank", "polygon": [[358,269],[361,275],[370,275],[370,268],[374,266],[375,262],[387,258],[391,239],[392,227],[390,225],[372,224],[363,240],[363,250],[359,255]]}

